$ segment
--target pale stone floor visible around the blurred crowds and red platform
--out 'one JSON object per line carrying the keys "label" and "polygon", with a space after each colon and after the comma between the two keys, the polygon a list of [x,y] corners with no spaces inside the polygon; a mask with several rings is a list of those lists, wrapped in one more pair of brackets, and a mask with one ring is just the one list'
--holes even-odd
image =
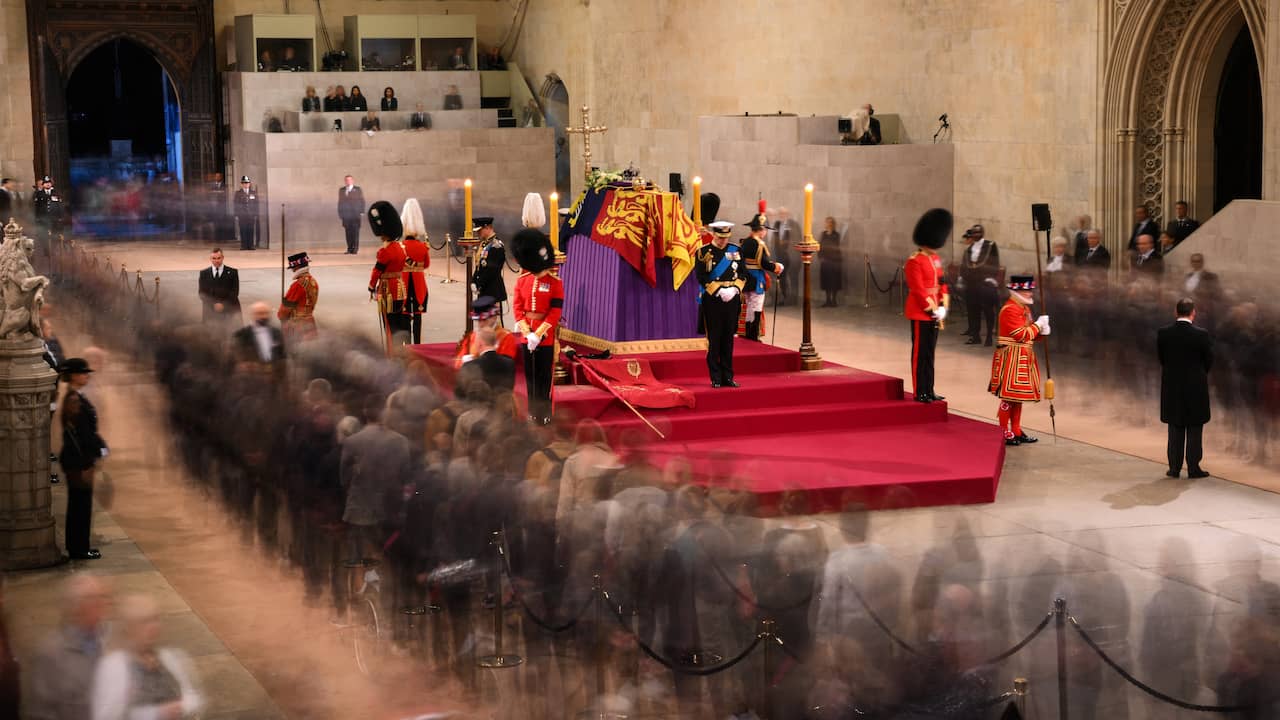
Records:
{"label": "pale stone floor visible around the blurred crowds and red platform", "polygon": [[[100,251],[131,270],[142,268],[148,278],[157,273],[166,301],[196,307],[195,270],[205,261],[202,249],[134,245]],[[316,258],[325,328],[376,332],[364,291],[371,260],[370,251],[356,263],[337,254]],[[278,258],[269,254],[229,252],[228,263],[242,268],[246,301],[274,299],[279,282],[274,261]],[[433,269],[439,266],[436,261]],[[452,341],[460,333],[462,291],[461,284],[431,286],[428,336],[433,340]],[[892,314],[815,310],[815,318],[814,338],[824,357],[906,373],[906,332]],[[959,345],[955,334],[943,337],[951,342],[940,350],[938,389],[956,411],[989,418],[995,407],[982,392],[989,351]],[[76,352],[82,342],[73,341],[68,351]],[[777,343],[799,345],[796,309],[780,314]],[[109,389],[104,427],[115,448],[110,471],[118,492],[113,509],[95,518],[106,557],[92,568],[118,577],[118,587],[154,589],[164,598],[174,643],[201,657],[202,682],[221,714],[212,716],[392,717],[466,710],[452,688],[411,664],[381,682],[360,676],[325,612],[303,606],[301,579],[246,543],[239,528],[173,464],[150,382],[127,359],[113,361],[101,379]],[[1148,605],[1166,588],[1185,598],[1174,612],[1194,637],[1221,637],[1225,619],[1242,611],[1242,582],[1254,582],[1256,571],[1280,578],[1280,496],[1244,484],[1275,487],[1276,478],[1235,469],[1212,455],[1206,466],[1219,477],[1165,478],[1164,428],[1155,419],[1120,425],[1117,432],[1114,415],[1125,410],[1123,404],[1082,397],[1074,388],[1060,387],[1059,393],[1059,439],[1011,448],[995,503],[878,514],[872,539],[888,550],[908,582],[927,556],[966,548],[977,562],[952,571],[989,598],[1002,598],[1004,615],[993,621],[1009,637],[1025,633],[1055,596],[1064,596],[1082,621],[1123,629],[1128,638],[1123,652],[1134,666]],[[1030,409],[1028,424],[1047,429],[1047,407]],[[922,438],[922,447],[927,441]],[[19,650],[54,621],[56,583],[50,580],[82,568],[65,565],[10,579],[6,609],[19,628]],[[1032,676],[1033,685],[1048,682],[1042,662],[1051,655],[1048,638],[1010,661],[1010,673]],[[1169,652],[1180,650],[1185,651]],[[1206,688],[1213,678],[1208,665],[1216,660],[1204,652],[1204,679],[1188,700],[1213,701]],[[1044,688],[1038,716],[1052,717],[1051,692]],[[1128,710],[1111,716],[1172,716],[1149,710],[1137,691],[1116,692]],[[507,710],[502,715],[518,716]]]}

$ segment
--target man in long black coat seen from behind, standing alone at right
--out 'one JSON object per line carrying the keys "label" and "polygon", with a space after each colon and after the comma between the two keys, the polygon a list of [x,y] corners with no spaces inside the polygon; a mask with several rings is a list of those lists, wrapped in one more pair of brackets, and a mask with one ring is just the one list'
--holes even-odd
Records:
{"label": "man in long black coat seen from behind, standing alone at right", "polygon": [[1208,421],[1208,370],[1213,365],[1213,340],[1197,328],[1196,302],[1178,301],[1178,319],[1156,333],[1160,356],[1160,421],[1169,424],[1169,473],[1176,478],[1187,457],[1188,478],[1207,478],[1199,466],[1204,455],[1201,436]]}

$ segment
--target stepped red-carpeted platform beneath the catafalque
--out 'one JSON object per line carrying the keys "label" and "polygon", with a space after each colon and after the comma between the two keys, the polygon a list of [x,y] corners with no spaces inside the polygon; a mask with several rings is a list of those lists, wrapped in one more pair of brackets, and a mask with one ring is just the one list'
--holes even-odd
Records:
{"label": "stepped red-carpeted platform beneath the catafalque", "polygon": [[[413,350],[452,387],[452,345]],[[614,438],[641,429],[659,466],[685,457],[698,482],[733,477],[764,509],[786,491],[806,492],[818,511],[849,498],[874,509],[996,500],[1005,460],[998,429],[950,415],[945,402],[906,398],[900,378],[832,363],[804,372],[795,351],[739,341],[733,364],[742,387],[717,389],[703,352],[637,356],[659,380],[698,398],[694,409],[641,410],[667,439],[590,384],[558,386],[557,406],[598,419]],[[522,380],[516,389],[524,397]]]}

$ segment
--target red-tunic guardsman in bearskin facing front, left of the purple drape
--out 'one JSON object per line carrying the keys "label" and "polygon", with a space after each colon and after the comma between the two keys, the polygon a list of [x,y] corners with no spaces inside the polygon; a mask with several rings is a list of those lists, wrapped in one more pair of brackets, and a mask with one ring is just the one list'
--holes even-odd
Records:
{"label": "red-tunic guardsman in bearskin facing front, left of the purple drape", "polygon": [[524,274],[516,281],[511,311],[516,334],[525,342],[517,347],[525,364],[529,391],[529,419],[547,425],[552,421],[552,370],[556,368],[556,328],[564,309],[564,286],[556,277],[556,251],[541,231],[526,228],[511,241],[511,252]]}

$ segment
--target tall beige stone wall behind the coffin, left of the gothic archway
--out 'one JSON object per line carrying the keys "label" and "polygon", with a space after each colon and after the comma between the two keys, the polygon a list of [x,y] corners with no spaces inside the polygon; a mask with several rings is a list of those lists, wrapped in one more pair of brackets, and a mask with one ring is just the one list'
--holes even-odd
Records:
{"label": "tall beige stone wall behind the coffin, left of the gothic archway", "polygon": [[1057,218],[1096,205],[1097,5],[540,0],[516,60],[535,87],[559,74],[570,105],[609,127],[593,141],[596,164],[635,163],[662,181],[708,174],[704,115],[833,115],[870,101],[901,115],[904,142],[927,143],[948,113],[959,220],[983,222],[1020,261],[1032,202]]}

